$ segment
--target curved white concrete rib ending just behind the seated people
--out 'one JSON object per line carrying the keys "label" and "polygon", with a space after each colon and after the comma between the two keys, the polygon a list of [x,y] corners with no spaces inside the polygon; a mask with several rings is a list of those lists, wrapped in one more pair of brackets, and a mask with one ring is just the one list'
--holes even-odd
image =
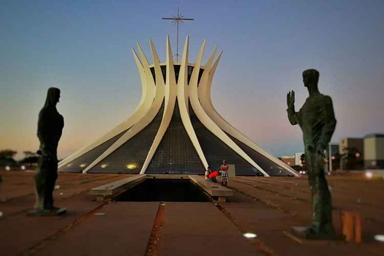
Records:
{"label": "curved white concrete rib ending just behind the seated people", "polygon": [[[205,159],[203,150],[200,146],[199,140],[197,139],[194,127],[190,122],[189,109],[188,109],[188,41],[189,36],[185,39],[183,55],[181,57],[181,66],[179,72],[179,79],[177,83],[177,102],[179,103],[179,110],[181,121],[184,125],[185,131],[187,132],[189,139],[195,147],[197,154],[200,157],[204,167],[208,167],[208,162]],[[195,68],[196,69],[196,68]]]}

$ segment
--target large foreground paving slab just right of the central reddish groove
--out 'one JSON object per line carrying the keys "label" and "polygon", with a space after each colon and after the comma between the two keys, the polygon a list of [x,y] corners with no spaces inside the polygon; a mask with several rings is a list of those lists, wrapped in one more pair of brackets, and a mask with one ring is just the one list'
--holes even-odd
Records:
{"label": "large foreground paving slab just right of the central reddish groove", "polygon": [[264,255],[213,203],[167,202],[160,255]]}

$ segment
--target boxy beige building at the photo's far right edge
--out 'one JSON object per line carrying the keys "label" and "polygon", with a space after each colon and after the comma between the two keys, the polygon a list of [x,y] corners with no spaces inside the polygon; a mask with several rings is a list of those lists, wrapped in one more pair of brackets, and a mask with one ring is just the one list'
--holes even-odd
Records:
{"label": "boxy beige building at the photo's far right edge", "polygon": [[364,166],[384,168],[384,134],[367,134],[364,137]]}

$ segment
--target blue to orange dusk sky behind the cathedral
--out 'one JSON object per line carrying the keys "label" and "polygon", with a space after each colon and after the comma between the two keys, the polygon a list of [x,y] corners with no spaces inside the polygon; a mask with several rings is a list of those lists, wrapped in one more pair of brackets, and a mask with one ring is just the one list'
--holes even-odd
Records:
{"label": "blue to orange dusk sky behind the cathedral", "polygon": [[[37,116],[49,87],[61,89],[65,127],[59,158],[129,117],[141,98],[131,53],[148,37],[165,60],[165,36],[176,52],[176,25],[161,17],[177,6],[193,22],[190,61],[203,39],[205,58],[224,50],[212,102],[218,112],[270,153],[303,151],[286,116],[308,96],[302,71],[320,72],[333,99],[332,141],[384,132],[384,1],[2,1],[0,3],[0,149],[36,151]],[[151,60],[152,62],[152,60]]]}

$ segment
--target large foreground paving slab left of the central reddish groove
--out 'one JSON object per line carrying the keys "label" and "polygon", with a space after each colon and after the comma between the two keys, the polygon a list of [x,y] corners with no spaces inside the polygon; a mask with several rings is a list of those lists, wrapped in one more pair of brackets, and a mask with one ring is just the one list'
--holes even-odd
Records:
{"label": "large foreground paving slab left of the central reddish groove", "polygon": [[144,255],[158,207],[158,202],[111,202],[36,255]]}

